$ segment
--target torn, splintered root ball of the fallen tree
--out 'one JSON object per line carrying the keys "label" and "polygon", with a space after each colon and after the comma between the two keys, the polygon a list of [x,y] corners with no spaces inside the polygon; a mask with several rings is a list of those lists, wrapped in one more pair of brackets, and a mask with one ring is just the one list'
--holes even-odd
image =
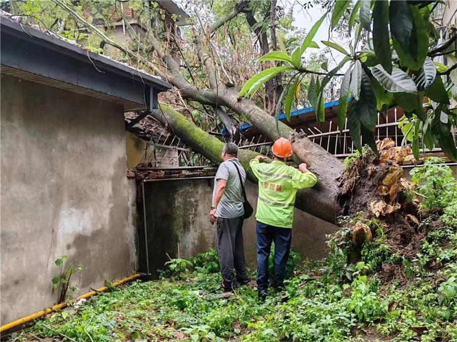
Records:
{"label": "torn, splintered root ball of the fallen tree", "polygon": [[[426,233],[419,231],[414,186],[402,178],[402,163],[414,157],[411,148],[395,147],[391,139],[378,141],[377,146],[379,156],[371,150],[365,152],[340,177],[338,198],[343,215],[364,220],[376,218],[385,227],[393,252],[411,256]],[[375,229],[362,222],[355,222],[349,228],[355,250],[376,236]]]}

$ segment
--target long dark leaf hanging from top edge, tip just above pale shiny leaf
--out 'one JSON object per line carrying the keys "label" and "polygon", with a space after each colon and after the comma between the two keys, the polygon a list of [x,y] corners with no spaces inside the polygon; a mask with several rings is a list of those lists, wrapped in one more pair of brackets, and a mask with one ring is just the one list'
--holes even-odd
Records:
{"label": "long dark leaf hanging from top edge, tip just above pale shiny leaf", "polygon": [[378,0],[373,8],[373,46],[384,70],[392,73],[392,55],[389,43],[389,2]]}

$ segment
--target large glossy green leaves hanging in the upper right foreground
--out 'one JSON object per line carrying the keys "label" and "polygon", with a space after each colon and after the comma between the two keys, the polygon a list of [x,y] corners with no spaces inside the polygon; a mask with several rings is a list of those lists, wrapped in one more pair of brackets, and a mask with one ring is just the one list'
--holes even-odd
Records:
{"label": "large glossy green leaves hanging in the upper right foreground", "polygon": [[[447,66],[439,65],[437,72],[433,58],[437,55],[447,55],[450,60],[456,60],[455,49],[449,48],[445,43],[438,45],[439,35],[433,22],[431,13],[435,9],[435,1],[409,2],[401,1],[358,1],[352,6],[351,1],[337,1],[333,6],[331,15],[332,27],[338,25],[340,20],[346,20],[343,14],[352,8],[349,17],[348,30],[351,32],[357,20],[354,45],[350,53],[342,46],[333,42],[322,42],[347,56],[338,67],[325,75],[322,80],[319,76],[311,79],[308,89],[308,99],[314,107],[316,119],[324,119],[322,94],[328,82],[339,76],[340,69],[346,69],[340,91],[340,107],[338,122],[342,128],[346,116],[348,117],[349,133],[358,150],[363,144],[368,144],[376,150],[372,130],[376,124],[377,111],[384,105],[399,105],[406,111],[405,115],[411,118],[415,115],[414,139],[411,140],[412,149],[416,159],[419,158],[419,135],[427,139],[427,148],[440,146],[443,152],[452,160],[457,160],[455,143],[452,139],[450,127],[456,124],[456,109],[449,109],[449,99],[457,98],[455,89],[455,71],[449,70],[446,84],[439,73],[446,73]],[[309,47],[314,35],[321,25],[320,18],[309,31],[301,47],[298,47],[289,56],[281,52],[280,59],[277,52],[262,57],[262,60],[281,60],[291,69],[292,74],[288,82],[291,86],[287,96],[281,96],[284,112],[289,120],[293,100],[292,87],[299,87],[303,75],[311,73],[301,65],[301,57]],[[449,27],[449,42],[457,35],[455,27]],[[365,50],[358,51],[361,35],[370,38]],[[349,66],[346,65],[349,64]],[[326,64],[322,64],[326,70]],[[324,67],[325,66],[325,67]],[[349,74],[349,70],[350,74]],[[286,70],[283,70],[286,71]],[[265,83],[260,74],[255,75],[246,84],[256,80]],[[256,83],[256,86],[260,86]],[[249,92],[240,92],[240,95],[249,96]],[[286,91],[286,90],[284,90]],[[348,98],[352,96],[350,106]],[[431,106],[422,106],[423,97],[430,98]],[[281,101],[280,101],[281,102]],[[277,113],[280,105],[278,104]],[[430,124],[432,121],[432,124]],[[360,142],[362,138],[362,143]]]}

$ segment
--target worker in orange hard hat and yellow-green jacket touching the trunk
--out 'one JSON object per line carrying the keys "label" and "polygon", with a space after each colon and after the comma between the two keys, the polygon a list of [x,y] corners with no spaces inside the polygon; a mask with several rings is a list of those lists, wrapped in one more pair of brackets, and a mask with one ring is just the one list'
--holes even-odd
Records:
{"label": "worker in orange hard hat and yellow-green jacket touching the trunk", "polygon": [[292,155],[292,144],[284,138],[272,147],[273,161],[263,163],[267,157],[257,156],[249,162],[258,179],[258,200],[255,217],[257,247],[257,289],[265,300],[268,290],[268,258],[271,244],[275,243],[275,275],[273,287],[283,287],[285,267],[292,238],[293,206],[298,189],[314,186],[316,176],[302,163],[299,169],[288,166],[284,160]]}

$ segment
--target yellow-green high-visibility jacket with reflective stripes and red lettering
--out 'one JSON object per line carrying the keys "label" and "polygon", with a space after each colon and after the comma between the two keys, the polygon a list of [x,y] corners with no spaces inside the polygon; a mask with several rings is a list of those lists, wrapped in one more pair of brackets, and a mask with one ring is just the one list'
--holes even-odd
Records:
{"label": "yellow-green high-visibility jacket with reflective stripes and red lettering", "polygon": [[314,186],[317,177],[311,172],[304,174],[279,160],[268,164],[252,159],[249,166],[258,179],[257,221],[292,228],[297,190]]}

